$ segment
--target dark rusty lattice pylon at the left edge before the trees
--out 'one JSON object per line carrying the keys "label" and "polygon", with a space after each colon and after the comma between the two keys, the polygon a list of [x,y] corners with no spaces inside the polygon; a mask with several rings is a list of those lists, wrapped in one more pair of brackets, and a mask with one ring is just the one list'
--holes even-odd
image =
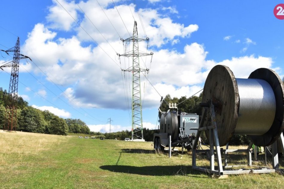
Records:
{"label": "dark rusty lattice pylon at the left edge before the trees", "polygon": [[[11,78],[10,78],[10,85],[9,85],[9,93],[8,93],[8,99],[9,104],[6,108],[6,123],[3,126],[3,130],[5,130],[5,126],[7,127],[7,130],[12,131],[13,128],[16,131],[16,125],[17,125],[17,102],[18,102],[18,80],[19,80],[19,62],[20,59],[29,58],[28,56],[20,54],[20,39],[18,37],[15,47],[12,47],[8,50],[2,50],[9,55],[8,52],[13,52],[13,61],[10,61],[8,63],[3,64],[0,66],[0,69],[3,70],[4,67],[12,67],[11,70]],[[30,59],[30,61],[32,61]]]}

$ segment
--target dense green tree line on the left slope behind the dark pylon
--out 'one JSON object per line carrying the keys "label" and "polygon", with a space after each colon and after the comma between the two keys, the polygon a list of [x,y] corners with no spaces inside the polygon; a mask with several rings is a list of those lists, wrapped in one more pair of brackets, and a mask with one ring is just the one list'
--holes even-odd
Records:
{"label": "dense green tree line on the left slope behind the dark pylon", "polygon": [[[0,126],[7,124],[6,112],[10,106],[6,90],[0,87]],[[16,131],[67,135],[68,133],[90,134],[90,129],[80,119],[63,119],[48,110],[42,111],[28,105],[22,97],[17,100]],[[6,127],[6,126],[5,126]]]}

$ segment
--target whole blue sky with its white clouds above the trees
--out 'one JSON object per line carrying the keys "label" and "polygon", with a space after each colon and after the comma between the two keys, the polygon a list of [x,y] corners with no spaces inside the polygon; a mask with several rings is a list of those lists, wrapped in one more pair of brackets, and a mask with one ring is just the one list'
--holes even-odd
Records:
{"label": "whole blue sky with its white clouds above the trees", "polygon": [[[20,61],[18,93],[29,105],[81,119],[92,131],[108,132],[110,117],[112,131],[130,130],[130,80],[121,72],[129,60],[119,61],[116,53],[123,54],[120,37],[132,33],[133,17],[139,36],[150,39],[152,63],[150,58],[142,62],[162,96],[191,96],[203,88],[216,64],[229,66],[236,78],[247,78],[259,67],[284,76],[284,20],[273,14],[281,1],[114,3],[116,7],[112,0],[1,2],[0,49],[13,47],[19,36],[21,53],[33,60]],[[146,51],[145,43],[139,47]],[[0,63],[8,59],[2,53]],[[9,80],[9,74],[0,73],[3,89],[8,90]],[[161,97],[144,78],[141,88],[143,126],[155,128]]]}

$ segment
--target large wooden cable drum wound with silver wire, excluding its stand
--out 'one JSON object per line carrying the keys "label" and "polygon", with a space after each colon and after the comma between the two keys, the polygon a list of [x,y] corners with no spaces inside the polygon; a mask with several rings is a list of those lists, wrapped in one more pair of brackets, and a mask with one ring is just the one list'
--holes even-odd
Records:
{"label": "large wooden cable drum wound with silver wire, excluding its stand", "polygon": [[[235,78],[223,65],[213,67],[204,84],[202,102],[212,100],[221,146],[233,134],[245,134],[257,146],[271,145],[284,128],[284,86],[271,69],[260,68],[248,79]],[[212,125],[211,115],[202,110],[204,122]],[[206,131],[207,138],[209,132]]]}

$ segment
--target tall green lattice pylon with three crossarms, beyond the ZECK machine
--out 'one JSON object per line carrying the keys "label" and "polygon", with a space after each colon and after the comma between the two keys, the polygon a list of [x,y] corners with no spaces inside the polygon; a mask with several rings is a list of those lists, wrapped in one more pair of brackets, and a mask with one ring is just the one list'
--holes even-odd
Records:
{"label": "tall green lattice pylon with three crossarms, beyond the ZECK machine", "polygon": [[[138,42],[149,41],[149,38],[143,39],[138,37],[137,22],[134,21],[133,35],[127,39],[121,39],[123,44],[132,42],[132,50],[118,56],[132,57],[132,66],[128,69],[122,69],[123,72],[132,72],[132,140],[134,138],[143,139],[143,122],[142,122],[142,104],[141,104],[141,86],[140,73],[149,72],[148,68],[141,68],[139,57],[153,55],[153,53],[139,52]],[[146,65],[145,65],[146,66]]]}

